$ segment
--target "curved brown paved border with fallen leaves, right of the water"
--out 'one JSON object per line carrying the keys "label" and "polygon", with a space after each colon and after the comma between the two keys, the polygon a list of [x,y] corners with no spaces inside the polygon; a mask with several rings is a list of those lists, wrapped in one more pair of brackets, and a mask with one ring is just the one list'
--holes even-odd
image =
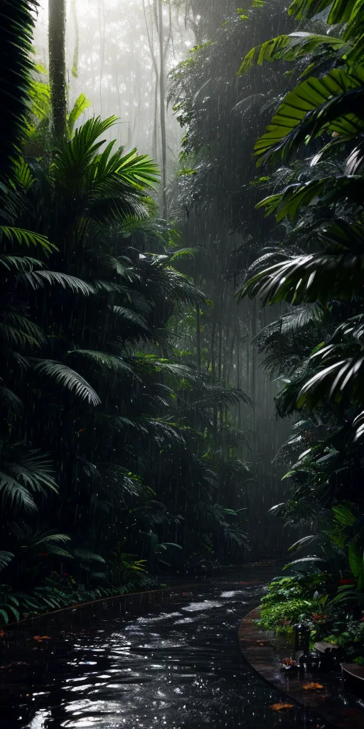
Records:
{"label": "curved brown paved border with fallen leaves, right of the water", "polygon": [[280,670],[280,659],[288,657],[291,647],[285,639],[264,631],[256,624],[259,608],[246,615],[239,628],[239,642],[242,655],[250,666],[267,682],[298,703],[319,714],[325,721],[340,729],[358,729],[364,726],[364,710],[358,706],[344,706],[338,701],[343,691],[343,683],[333,674],[320,674],[324,689],[320,692],[307,692],[302,684],[317,681],[306,675],[300,679],[298,674]]}

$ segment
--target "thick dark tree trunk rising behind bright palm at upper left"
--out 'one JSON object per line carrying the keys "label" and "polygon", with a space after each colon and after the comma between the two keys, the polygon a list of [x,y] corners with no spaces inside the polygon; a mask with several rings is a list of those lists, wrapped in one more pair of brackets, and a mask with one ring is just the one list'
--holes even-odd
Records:
{"label": "thick dark tree trunk rising behind bright palm at upper left", "polygon": [[58,142],[67,134],[66,0],[48,0],[48,13],[52,136]]}

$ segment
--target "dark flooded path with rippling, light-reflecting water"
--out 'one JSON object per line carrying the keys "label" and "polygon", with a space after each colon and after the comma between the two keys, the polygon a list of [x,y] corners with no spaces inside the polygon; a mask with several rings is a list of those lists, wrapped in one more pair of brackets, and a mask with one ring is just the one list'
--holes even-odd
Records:
{"label": "dark flooded path with rippling, light-reflecting water", "polygon": [[242,658],[237,630],[258,579],[244,570],[176,590],[148,615],[31,643],[15,656],[26,665],[1,669],[1,729],[326,728],[299,706],[274,712],[282,695]]}

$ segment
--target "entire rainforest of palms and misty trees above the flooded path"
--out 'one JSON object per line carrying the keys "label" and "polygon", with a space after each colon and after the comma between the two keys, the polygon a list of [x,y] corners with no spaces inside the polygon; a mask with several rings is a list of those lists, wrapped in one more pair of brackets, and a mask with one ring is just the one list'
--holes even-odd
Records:
{"label": "entire rainforest of palms and misty trees above the flooded path", "polygon": [[1,625],[274,560],[364,666],[363,0],[0,9]]}

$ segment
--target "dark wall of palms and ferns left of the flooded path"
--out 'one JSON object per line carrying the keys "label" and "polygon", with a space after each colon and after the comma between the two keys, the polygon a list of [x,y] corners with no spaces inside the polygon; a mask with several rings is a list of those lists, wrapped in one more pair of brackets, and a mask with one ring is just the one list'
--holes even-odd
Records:
{"label": "dark wall of palms and ferns left of the flooded path", "polygon": [[159,218],[157,166],[104,144],[116,117],[82,123],[84,95],[66,109],[56,74],[62,33],[52,45],[50,24],[49,85],[33,63],[36,3],[5,5],[0,615],[8,622],[153,585],[171,569],[241,561],[248,467],[229,409],[249,398],[212,376],[195,346],[196,320],[213,302],[178,270],[191,251]]}

